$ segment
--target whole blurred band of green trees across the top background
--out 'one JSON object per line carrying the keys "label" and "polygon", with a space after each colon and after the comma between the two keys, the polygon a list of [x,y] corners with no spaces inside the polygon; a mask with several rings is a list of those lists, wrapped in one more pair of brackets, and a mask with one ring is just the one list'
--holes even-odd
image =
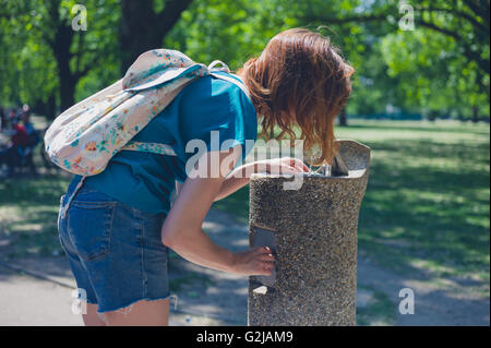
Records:
{"label": "whole blurred band of green trees across the top background", "polygon": [[[87,29],[73,31],[73,7]],[[399,21],[414,10],[414,31]],[[143,51],[238,69],[280,31],[319,28],[357,70],[347,113],[489,120],[489,0],[0,0],[0,105],[55,118]]]}

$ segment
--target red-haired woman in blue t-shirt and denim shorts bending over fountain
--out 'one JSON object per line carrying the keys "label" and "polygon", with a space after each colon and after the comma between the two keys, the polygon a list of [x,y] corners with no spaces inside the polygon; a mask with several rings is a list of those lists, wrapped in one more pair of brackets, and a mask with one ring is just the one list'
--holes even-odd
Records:
{"label": "red-haired woman in blue t-shirt and denim shorts bending over fountain", "polygon": [[[237,74],[250,98],[236,84],[201,77],[136,136],[135,141],[172,144],[177,156],[121,151],[101,173],[75,176],[60,211],[74,194],[67,214],[60,214],[60,241],[87,302],[86,325],[167,325],[169,287],[167,252],[202,266],[241,275],[268,275],[274,256],[267,248],[232,253],[214,243],[201,229],[214,201],[249,182],[247,173],[307,171],[294,158],[238,166],[247,153],[246,140],[256,140],[258,123],[264,134],[274,128],[294,134],[299,127],[304,148],[319,146],[320,160],[334,153],[334,119],[351,92],[354,70],[328,38],[303,28],[276,35],[259,58],[250,59]],[[224,72],[225,73],[225,72]],[[212,151],[211,131],[220,141]],[[207,152],[187,172],[192,140]],[[212,176],[216,168],[218,175]],[[216,170],[215,170],[216,173]],[[170,196],[179,182],[172,206]]]}

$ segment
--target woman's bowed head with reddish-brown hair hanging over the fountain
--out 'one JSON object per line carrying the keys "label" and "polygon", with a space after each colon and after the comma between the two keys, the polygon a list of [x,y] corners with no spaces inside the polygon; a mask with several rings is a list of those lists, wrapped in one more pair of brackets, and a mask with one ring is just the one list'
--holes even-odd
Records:
{"label": "woman's bowed head with reddish-brown hair hanging over the fountain", "polygon": [[327,37],[304,28],[282,32],[239,73],[251,93],[263,134],[273,137],[277,125],[282,130],[277,139],[295,137],[298,124],[306,151],[320,147],[314,164],[331,164],[334,119],[351,92],[354,69]]}

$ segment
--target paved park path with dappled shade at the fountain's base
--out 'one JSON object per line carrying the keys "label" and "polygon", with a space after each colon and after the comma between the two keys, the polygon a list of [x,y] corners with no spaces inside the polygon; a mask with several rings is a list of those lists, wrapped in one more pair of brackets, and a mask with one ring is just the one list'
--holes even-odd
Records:
{"label": "paved park path with dappled shade at the fountain's base", "polygon": [[[230,250],[249,245],[247,226],[224,212],[212,209],[203,229]],[[176,254],[169,277],[177,298],[177,303],[171,301],[171,325],[247,324],[247,277],[200,267]],[[468,291],[472,284],[467,279],[440,280],[398,275],[360,256],[357,302],[363,324],[489,325],[489,293]],[[64,257],[0,262],[0,325],[81,325],[80,316],[71,313],[73,288]],[[415,292],[412,315],[398,313],[402,288]]]}

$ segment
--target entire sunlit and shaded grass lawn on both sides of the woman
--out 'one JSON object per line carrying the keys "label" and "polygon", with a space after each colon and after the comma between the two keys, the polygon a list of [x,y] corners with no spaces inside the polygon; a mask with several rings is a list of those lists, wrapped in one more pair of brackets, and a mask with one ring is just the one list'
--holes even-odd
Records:
{"label": "entire sunlit and shaded grass lawn on both sides of the woman", "polygon": [[[336,132],[372,148],[361,254],[397,272],[489,281],[488,124],[352,120]],[[0,236],[9,240],[2,257],[60,252],[56,220],[69,179],[0,179]],[[247,223],[248,194],[244,188],[214,206]]]}

